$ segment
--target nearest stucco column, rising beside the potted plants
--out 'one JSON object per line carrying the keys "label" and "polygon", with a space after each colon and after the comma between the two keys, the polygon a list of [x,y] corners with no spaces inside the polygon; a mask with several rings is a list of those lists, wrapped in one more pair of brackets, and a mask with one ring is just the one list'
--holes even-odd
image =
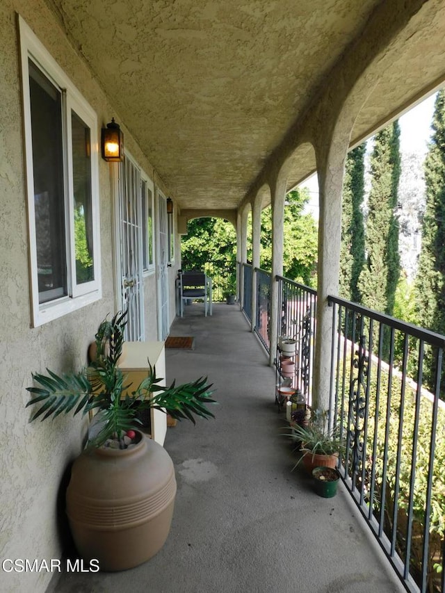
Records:
{"label": "nearest stucco column, rising beside the potted plants", "polygon": [[318,286],[315,368],[312,406],[329,409],[332,353],[332,307],[327,295],[339,294],[341,194],[348,138],[330,150],[325,165],[318,162],[320,218],[318,220]]}

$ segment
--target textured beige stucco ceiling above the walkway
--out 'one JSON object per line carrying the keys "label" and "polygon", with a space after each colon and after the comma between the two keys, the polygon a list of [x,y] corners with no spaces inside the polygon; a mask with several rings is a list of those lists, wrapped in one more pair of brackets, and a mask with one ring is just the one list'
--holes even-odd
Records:
{"label": "textured beige stucco ceiling above the walkway", "polygon": [[[186,209],[240,204],[380,0],[47,3],[125,127]],[[441,29],[443,23],[435,35]],[[413,35],[417,67],[423,37]],[[431,72],[412,76],[407,85],[405,67],[388,63],[401,89],[396,92],[382,81],[353,137],[403,104],[419,84],[425,86],[428,81],[421,76],[440,76],[444,65],[432,61]],[[313,151],[307,151],[292,179],[314,169],[313,159]]]}

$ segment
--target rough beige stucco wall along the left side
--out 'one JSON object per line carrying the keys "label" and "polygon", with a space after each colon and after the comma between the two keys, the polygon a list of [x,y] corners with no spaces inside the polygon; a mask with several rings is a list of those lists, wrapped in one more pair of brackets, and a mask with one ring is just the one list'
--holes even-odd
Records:
{"label": "rough beige stucco wall along the left side", "polygon": [[[99,127],[115,115],[97,81],[67,43],[43,0],[0,3],[0,562],[9,558],[60,558],[63,538],[57,517],[58,491],[68,464],[81,450],[81,418],[29,424],[25,409],[31,372],[70,371],[86,363],[88,343],[98,323],[114,311],[112,208],[108,164],[100,159],[100,233],[103,298],[41,327],[31,328],[28,233],[22,138],[19,38],[16,13],[22,15],[51,55],[95,109]],[[126,145],[140,165],[153,168],[127,133]],[[145,282],[154,295],[155,277]],[[147,339],[156,339],[154,302],[147,318]],[[154,305],[154,306],[153,306]],[[154,312],[153,312],[154,311]],[[63,510],[63,500],[60,508]],[[59,509],[60,510],[60,509]],[[61,513],[63,520],[63,512]],[[0,564],[0,590],[42,592],[51,574],[7,573]]]}

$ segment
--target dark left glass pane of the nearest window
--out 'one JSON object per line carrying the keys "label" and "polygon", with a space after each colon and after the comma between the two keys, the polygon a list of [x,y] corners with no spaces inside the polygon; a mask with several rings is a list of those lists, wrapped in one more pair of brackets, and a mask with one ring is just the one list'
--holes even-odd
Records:
{"label": "dark left glass pane of the nearest window", "polygon": [[62,95],[29,60],[39,302],[67,294]]}

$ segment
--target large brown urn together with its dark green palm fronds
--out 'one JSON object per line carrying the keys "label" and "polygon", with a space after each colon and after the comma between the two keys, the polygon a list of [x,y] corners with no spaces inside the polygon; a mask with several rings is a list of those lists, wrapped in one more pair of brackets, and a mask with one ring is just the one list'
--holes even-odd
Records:
{"label": "large brown urn together with its dark green palm fronds", "polygon": [[161,387],[149,364],[147,378],[135,386],[118,366],[124,343],[126,313],[104,320],[95,336],[95,357],[79,373],[47,375],[28,387],[39,405],[30,421],[73,412],[97,412],[86,449],[72,467],[67,488],[67,515],[76,548],[103,570],[124,570],[161,549],[170,530],[176,494],[173,463],[165,449],[138,430],[138,414],[154,407],[172,418],[213,417],[207,404],[207,377]]}

